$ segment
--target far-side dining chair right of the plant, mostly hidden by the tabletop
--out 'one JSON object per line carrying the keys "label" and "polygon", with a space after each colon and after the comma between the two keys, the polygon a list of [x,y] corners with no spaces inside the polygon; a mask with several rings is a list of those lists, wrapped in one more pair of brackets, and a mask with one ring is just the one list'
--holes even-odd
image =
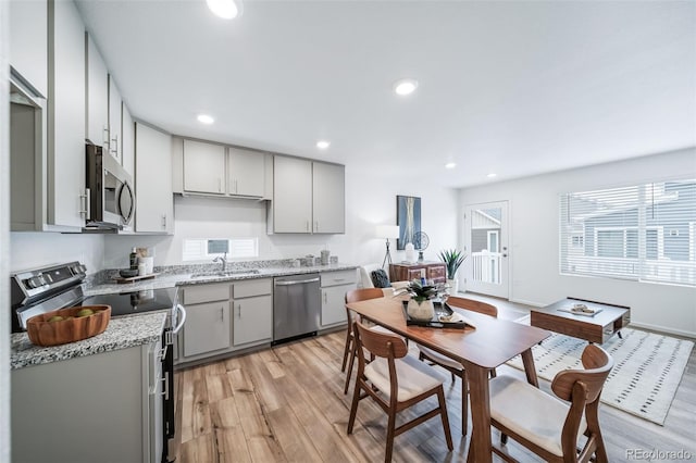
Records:
{"label": "far-side dining chair right of the plant, mostly hidden by the tabletop", "polygon": [[[482,313],[484,315],[489,315],[496,318],[498,317],[498,309],[495,305],[490,305],[481,301],[474,301],[473,299],[449,297],[447,298],[447,304],[450,306]],[[435,365],[442,366],[443,368],[447,370],[451,375],[452,383],[455,381],[455,376],[459,376],[461,378],[461,434],[462,436],[465,436],[467,427],[469,426],[469,389],[467,381],[467,370],[464,368],[464,365],[457,362],[456,360],[435,352],[434,350],[428,349],[425,346],[418,345],[418,348],[420,351],[419,359],[426,360]],[[496,376],[495,370],[490,371],[490,376]]]}

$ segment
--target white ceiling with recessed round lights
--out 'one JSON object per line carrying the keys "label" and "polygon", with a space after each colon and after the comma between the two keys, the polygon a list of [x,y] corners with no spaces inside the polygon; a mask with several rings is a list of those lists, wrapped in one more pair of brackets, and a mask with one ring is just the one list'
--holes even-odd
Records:
{"label": "white ceiling with recessed round lights", "polygon": [[134,116],[173,134],[453,187],[696,146],[693,1],[78,5]]}

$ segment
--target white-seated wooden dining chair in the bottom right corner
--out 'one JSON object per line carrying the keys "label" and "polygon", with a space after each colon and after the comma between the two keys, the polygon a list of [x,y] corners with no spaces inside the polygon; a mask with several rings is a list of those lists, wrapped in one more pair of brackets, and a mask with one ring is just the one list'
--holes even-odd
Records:
{"label": "white-seated wooden dining chair in the bottom right corner", "polygon": [[[500,375],[490,380],[490,424],[547,462],[607,462],[599,429],[599,396],[613,360],[599,346],[583,351],[585,370],[566,370],[554,377],[551,390],[561,400],[529,383]],[[566,403],[569,402],[569,403]],[[584,446],[581,435],[586,436]],[[493,451],[514,462],[502,448]]]}

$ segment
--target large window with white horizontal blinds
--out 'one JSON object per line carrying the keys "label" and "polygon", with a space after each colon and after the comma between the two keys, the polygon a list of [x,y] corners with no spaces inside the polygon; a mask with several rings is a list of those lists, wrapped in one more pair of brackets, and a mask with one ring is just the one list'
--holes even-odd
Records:
{"label": "large window with white horizontal blinds", "polygon": [[560,197],[560,271],[696,286],[696,180]]}

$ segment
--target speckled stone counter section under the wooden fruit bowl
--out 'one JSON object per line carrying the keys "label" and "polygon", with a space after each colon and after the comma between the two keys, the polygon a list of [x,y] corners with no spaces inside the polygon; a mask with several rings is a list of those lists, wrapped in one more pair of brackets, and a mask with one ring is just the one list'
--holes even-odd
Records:
{"label": "speckled stone counter section under the wooden fruit bowl", "polygon": [[10,365],[16,370],[154,342],[165,321],[166,311],[111,318],[101,335],[53,347],[34,346],[26,333],[16,333],[10,337]]}

